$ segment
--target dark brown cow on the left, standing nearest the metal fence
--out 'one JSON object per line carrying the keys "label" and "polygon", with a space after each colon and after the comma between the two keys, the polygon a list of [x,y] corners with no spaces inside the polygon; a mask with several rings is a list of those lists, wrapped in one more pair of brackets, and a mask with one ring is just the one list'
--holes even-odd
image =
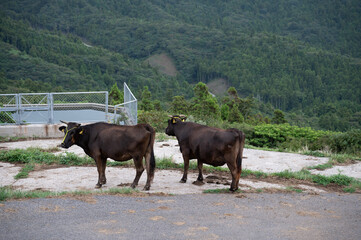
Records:
{"label": "dark brown cow on the left, standing nearest the metal fence", "polygon": [[107,158],[121,162],[133,158],[136,176],[131,187],[135,188],[144,171],[144,157],[147,169],[147,183],[144,190],[150,189],[155,169],[153,152],[155,131],[150,125],[120,126],[99,122],[81,126],[79,123],[61,122],[67,124],[67,127],[59,127],[59,130],[65,134],[61,147],[78,145],[95,160],[99,174],[96,188],[100,188],[107,181],[105,178]]}

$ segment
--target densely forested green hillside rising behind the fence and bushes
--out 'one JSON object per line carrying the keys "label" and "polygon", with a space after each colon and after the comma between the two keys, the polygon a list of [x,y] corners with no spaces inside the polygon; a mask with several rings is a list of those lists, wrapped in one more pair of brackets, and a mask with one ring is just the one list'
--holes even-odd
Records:
{"label": "densely forested green hillside rising behind the fence and bushes", "polygon": [[[261,0],[46,1],[0,3],[2,93],[109,90],[138,97],[192,97],[225,79],[254,113],[278,108],[289,121],[360,128],[361,2]],[[147,59],[166,54],[177,75]],[[221,100],[220,100],[221,101]]]}

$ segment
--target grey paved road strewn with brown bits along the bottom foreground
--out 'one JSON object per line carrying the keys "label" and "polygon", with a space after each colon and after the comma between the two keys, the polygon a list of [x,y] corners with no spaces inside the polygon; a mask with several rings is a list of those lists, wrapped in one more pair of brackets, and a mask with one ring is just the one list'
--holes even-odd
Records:
{"label": "grey paved road strewn with brown bits along the bottom foreground", "polygon": [[0,203],[0,239],[360,239],[359,194],[88,196]]}

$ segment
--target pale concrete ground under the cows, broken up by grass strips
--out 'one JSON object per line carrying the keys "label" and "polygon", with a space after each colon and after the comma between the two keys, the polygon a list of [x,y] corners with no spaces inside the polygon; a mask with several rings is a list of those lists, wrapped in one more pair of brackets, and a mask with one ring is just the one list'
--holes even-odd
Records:
{"label": "pale concrete ground under the cows, broken up by grass strips", "polygon": [[[61,142],[61,139],[33,140],[12,143],[0,143],[0,149],[26,149],[28,147],[40,147],[44,149],[54,148]],[[64,152],[73,152],[79,156],[85,156],[80,147],[72,146],[70,149],[59,149]],[[181,153],[176,140],[165,142],[156,142],[156,159],[171,158],[176,163],[183,162]],[[284,170],[299,171],[307,166],[323,164],[328,161],[327,158],[305,156],[300,154],[270,152],[261,150],[244,150],[243,169],[262,171],[266,173],[281,172]],[[0,162],[0,185],[11,185],[22,190],[49,190],[49,191],[75,191],[75,190],[94,190],[97,182],[96,167],[58,167],[52,169],[39,169],[29,174],[28,178],[15,180],[14,176],[20,171],[21,167],[9,163]],[[341,169],[341,170],[340,170]],[[342,174],[361,179],[361,163],[349,166],[337,166],[322,172],[325,175]],[[131,183],[135,176],[133,168],[107,167],[107,184],[103,189],[125,186]],[[197,173],[190,172],[188,182],[179,183],[182,176],[180,170],[157,170],[154,182],[151,187],[151,193],[163,192],[169,194],[187,194],[202,193],[206,189],[224,189],[229,188],[230,174],[205,174],[206,184],[197,186],[192,184],[197,178]],[[145,185],[146,174],[144,173],[139,182],[139,189]],[[324,192],[325,189],[319,186],[305,184],[302,181],[286,181],[279,179],[251,179],[242,178],[240,187],[244,191],[264,191],[284,190],[289,187],[303,189],[305,192]],[[327,191],[327,190],[326,190]]]}

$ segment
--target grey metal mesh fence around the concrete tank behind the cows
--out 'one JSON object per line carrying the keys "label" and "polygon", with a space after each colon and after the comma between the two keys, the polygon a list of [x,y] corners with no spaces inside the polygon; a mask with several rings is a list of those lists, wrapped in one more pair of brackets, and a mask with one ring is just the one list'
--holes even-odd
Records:
{"label": "grey metal mesh fence around the concrete tank behind the cows", "polygon": [[54,124],[60,120],[137,124],[137,99],[128,86],[124,83],[123,104],[108,105],[108,95],[106,91],[0,94],[0,125]]}

